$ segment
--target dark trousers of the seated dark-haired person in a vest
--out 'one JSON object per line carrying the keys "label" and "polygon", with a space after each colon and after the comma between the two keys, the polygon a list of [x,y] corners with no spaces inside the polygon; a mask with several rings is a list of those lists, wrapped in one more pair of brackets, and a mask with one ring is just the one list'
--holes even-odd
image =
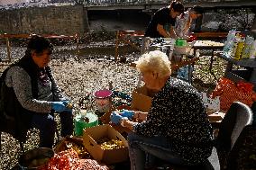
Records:
{"label": "dark trousers of the seated dark-haired person in a vest", "polygon": [[[73,115],[71,112],[59,112],[60,117],[60,136],[66,137],[73,134]],[[57,123],[54,121],[53,114],[34,114],[32,117],[32,128],[40,130],[41,148],[52,148]]]}

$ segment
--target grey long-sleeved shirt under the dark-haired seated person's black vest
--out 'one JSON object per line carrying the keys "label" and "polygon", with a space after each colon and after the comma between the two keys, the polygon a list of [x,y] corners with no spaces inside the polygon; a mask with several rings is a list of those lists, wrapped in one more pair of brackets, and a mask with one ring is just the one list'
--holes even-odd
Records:
{"label": "grey long-sleeved shirt under the dark-haired seated person's black vest", "polygon": [[[46,74],[47,76],[47,74]],[[5,85],[14,88],[16,97],[24,109],[32,112],[50,112],[53,101],[65,100],[54,78],[50,81],[47,76],[45,82],[38,81],[38,98],[32,97],[31,77],[22,67],[11,67],[5,77]]]}

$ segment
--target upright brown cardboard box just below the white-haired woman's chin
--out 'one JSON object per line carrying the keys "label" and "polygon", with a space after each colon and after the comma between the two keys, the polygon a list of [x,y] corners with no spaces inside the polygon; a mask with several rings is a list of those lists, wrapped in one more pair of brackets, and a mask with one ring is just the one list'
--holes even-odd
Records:
{"label": "upright brown cardboard box just below the white-haired woman's chin", "polygon": [[148,95],[145,85],[133,90],[131,107],[133,110],[149,112],[151,109],[152,98]]}

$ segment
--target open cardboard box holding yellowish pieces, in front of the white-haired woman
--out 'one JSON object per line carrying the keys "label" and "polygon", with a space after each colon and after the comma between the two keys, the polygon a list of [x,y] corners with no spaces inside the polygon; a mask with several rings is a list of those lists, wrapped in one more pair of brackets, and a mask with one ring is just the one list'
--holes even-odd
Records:
{"label": "open cardboard box holding yellowish pieces, in front of the white-haired woman", "polygon": [[[96,141],[104,137],[108,139],[122,140],[124,148],[103,150]],[[94,159],[96,159],[96,161],[104,162],[107,165],[123,162],[129,158],[127,140],[108,124],[85,129],[83,142],[87,151],[94,157]]]}

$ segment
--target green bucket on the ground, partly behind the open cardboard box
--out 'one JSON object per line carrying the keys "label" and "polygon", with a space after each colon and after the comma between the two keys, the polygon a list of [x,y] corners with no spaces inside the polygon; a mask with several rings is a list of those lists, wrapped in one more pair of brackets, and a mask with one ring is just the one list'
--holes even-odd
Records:
{"label": "green bucket on the ground, partly behind the open cardboard box", "polygon": [[98,117],[95,113],[87,112],[86,117],[88,118],[88,122],[84,119],[84,116],[81,114],[78,114],[75,117],[75,134],[77,136],[82,136],[83,130],[85,128],[90,128],[98,125]]}

